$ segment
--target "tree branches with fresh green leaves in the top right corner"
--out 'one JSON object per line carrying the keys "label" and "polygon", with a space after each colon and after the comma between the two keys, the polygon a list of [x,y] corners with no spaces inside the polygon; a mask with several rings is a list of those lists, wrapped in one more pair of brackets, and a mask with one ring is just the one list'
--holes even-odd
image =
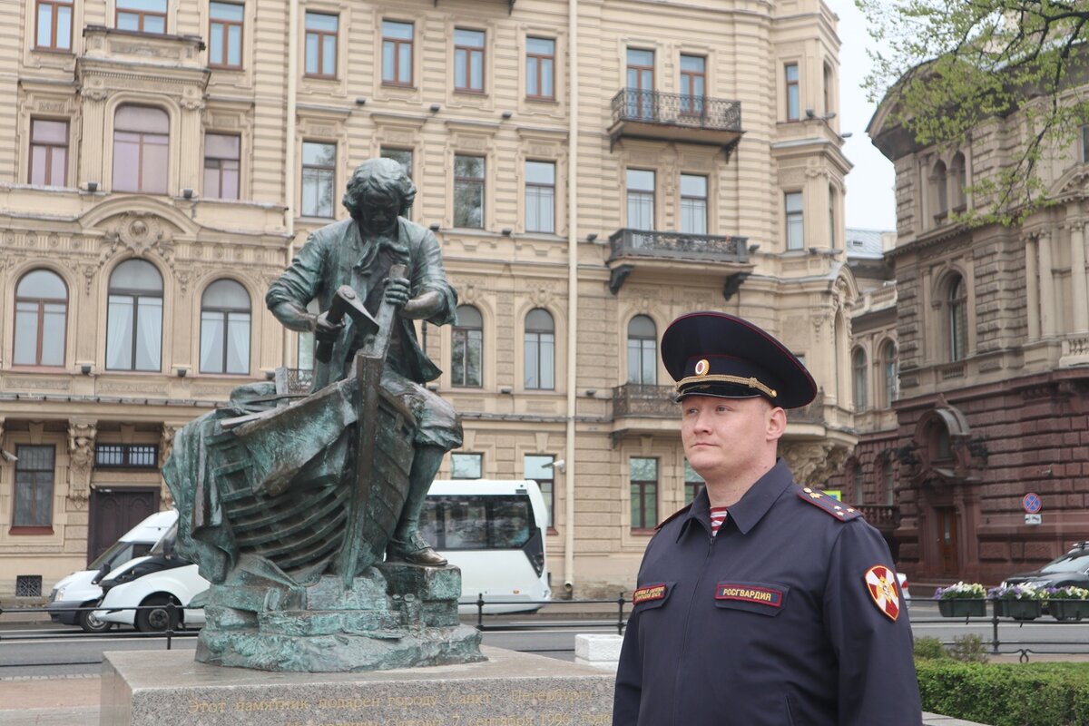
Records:
{"label": "tree branches with fresh green leaves in the top right corner", "polygon": [[969,224],[1015,224],[1049,204],[1040,177],[1072,153],[1089,123],[1089,2],[856,0],[880,50],[870,53],[871,100],[892,104],[885,128],[921,146],[964,145],[1002,122],[1007,158],[972,180]]}

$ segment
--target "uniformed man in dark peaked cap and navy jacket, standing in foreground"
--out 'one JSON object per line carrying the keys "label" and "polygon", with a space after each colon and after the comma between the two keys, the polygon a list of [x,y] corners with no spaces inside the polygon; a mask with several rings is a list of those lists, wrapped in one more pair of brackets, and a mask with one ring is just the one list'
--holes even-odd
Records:
{"label": "uniformed man in dark peaked cap and navy jacket, standing in foreground", "polygon": [[614,726],[919,726],[911,630],[884,540],[776,458],[817,393],[750,322],[694,312],[662,336],[685,456],[707,485],[639,568]]}

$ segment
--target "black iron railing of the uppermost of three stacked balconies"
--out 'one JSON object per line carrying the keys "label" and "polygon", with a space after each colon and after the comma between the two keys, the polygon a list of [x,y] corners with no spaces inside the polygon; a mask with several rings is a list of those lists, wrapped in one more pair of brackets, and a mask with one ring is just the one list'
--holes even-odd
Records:
{"label": "black iron railing of the uppermost of three stacked balconies", "polygon": [[742,133],[742,102],[625,88],[613,96],[613,123],[634,121]]}

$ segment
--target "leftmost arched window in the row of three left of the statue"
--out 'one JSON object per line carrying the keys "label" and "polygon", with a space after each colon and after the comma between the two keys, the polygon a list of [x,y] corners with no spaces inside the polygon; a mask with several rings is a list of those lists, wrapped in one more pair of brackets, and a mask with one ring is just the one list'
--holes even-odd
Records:
{"label": "leftmost arched window in the row of three left of the statue", "polygon": [[15,286],[16,366],[63,366],[68,287],[49,270],[33,270]]}

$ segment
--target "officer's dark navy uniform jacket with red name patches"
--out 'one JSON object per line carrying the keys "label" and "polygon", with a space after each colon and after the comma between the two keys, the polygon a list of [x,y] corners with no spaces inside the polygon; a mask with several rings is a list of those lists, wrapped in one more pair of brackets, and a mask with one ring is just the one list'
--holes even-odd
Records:
{"label": "officer's dark navy uniform jacket with red name patches", "polygon": [[813,494],[781,459],[715,538],[706,491],[661,527],[639,569],[614,726],[919,726],[906,603],[895,586],[893,620],[866,583],[876,565],[894,573],[889,547]]}

